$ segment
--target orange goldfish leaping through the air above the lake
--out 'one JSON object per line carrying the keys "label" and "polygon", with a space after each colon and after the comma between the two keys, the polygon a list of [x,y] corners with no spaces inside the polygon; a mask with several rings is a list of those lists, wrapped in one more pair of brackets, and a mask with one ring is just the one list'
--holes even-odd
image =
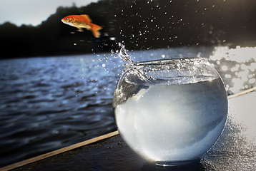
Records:
{"label": "orange goldfish leaping through the air above the lake", "polygon": [[99,37],[99,30],[102,29],[101,26],[96,24],[92,24],[92,20],[88,15],[71,15],[65,16],[61,21],[64,24],[68,24],[70,26],[77,27],[79,31],[83,31],[82,28],[87,28],[87,30],[92,31],[94,37]]}

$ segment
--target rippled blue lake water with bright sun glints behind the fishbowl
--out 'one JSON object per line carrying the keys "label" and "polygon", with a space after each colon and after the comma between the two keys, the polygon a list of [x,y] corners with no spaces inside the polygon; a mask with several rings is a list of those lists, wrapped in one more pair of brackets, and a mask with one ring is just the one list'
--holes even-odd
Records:
{"label": "rippled blue lake water with bright sun glints behind the fishbowl", "polygon": [[[128,51],[132,61],[205,57],[228,94],[255,87],[256,47]],[[0,167],[116,130],[117,52],[0,61]]]}

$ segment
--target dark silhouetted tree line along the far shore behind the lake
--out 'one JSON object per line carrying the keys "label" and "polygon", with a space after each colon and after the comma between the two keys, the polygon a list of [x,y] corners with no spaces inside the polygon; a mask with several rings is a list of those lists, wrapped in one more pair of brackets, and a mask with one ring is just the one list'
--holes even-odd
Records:
{"label": "dark silhouetted tree line along the far shore behind the lake", "polygon": [[[61,23],[88,14],[102,36]],[[80,8],[59,7],[39,26],[0,25],[1,58],[110,51],[123,41],[129,49],[217,45],[256,40],[256,1],[100,0]]]}

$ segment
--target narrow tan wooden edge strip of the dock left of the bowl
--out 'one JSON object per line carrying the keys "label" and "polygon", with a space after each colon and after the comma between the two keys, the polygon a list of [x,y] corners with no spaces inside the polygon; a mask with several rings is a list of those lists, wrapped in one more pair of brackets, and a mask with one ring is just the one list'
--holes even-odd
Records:
{"label": "narrow tan wooden edge strip of the dock left of the bowl", "polygon": [[70,145],[70,146],[68,146],[68,147],[63,147],[63,148],[61,148],[61,149],[59,149],[59,150],[54,150],[54,151],[52,151],[52,152],[47,152],[47,153],[45,153],[44,155],[39,155],[39,156],[36,156],[36,157],[32,157],[32,158],[30,158],[30,159],[28,159],[28,160],[24,160],[24,161],[21,161],[21,162],[16,162],[16,163],[14,163],[14,164],[12,164],[12,165],[8,165],[8,166],[6,166],[6,167],[2,167],[2,168],[0,168],[0,170],[1,170],[1,171],[12,170],[12,169],[17,168],[17,167],[21,167],[21,166],[24,166],[24,165],[28,165],[28,164],[30,164],[30,163],[32,163],[32,162],[37,162],[37,161],[39,161],[39,160],[43,160],[43,159],[45,159],[45,158],[47,158],[47,157],[51,157],[51,156],[53,156],[53,155],[58,155],[58,154],[60,154],[60,153],[62,153],[62,152],[67,152],[67,151],[69,151],[69,150],[73,150],[73,149],[75,149],[75,148],[77,148],[77,147],[82,147],[82,146],[84,146],[84,145],[89,145],[89,144],[91,144],[91,143],[93,143],[93,142],[97,142],[97,141],[99,141],[99,140],[104,140],[104,139],[106,139],[106,138],[111,138],[111,137],[113,137],[114,135],[118,135],[118,134],[119,134],[119,132],[118,132],[118,130],[117,130],[117,131],[114,131],[114,132],[112,132],[112,133],[108,133],[108,134],[99,136],[99,137],[97,137],[97,138],[92,138],[92,139],[90,139],[90,140],[85,140],[85,141],[83,141],[83,142],[79,142],[79,143],[77,143],[77,144]]}

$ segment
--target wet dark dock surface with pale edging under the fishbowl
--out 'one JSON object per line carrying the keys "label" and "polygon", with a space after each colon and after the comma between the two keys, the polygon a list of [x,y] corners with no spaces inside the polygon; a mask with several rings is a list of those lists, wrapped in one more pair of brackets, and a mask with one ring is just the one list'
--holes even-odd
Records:
{"label": "wet dark dock surface with pale edging under the fishbowl", "polygon": [[[201,160],[175,170],[255,170],[256,88],[230,95],[225,130]],[[129,149],[118,131],[0,168],[4,170],[167,170]]]}

